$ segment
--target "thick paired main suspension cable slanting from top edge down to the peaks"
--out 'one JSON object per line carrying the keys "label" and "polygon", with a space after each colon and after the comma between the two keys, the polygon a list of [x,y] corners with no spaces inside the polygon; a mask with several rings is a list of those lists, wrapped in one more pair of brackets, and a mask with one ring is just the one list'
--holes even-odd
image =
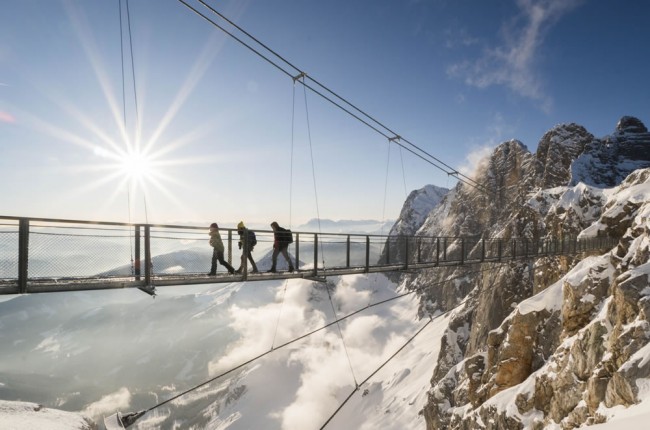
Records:
{"label": "thick paired main suspension cable slanting from top edge down to the peaks", "polygon": [[[199,10],[197,10],[196,8],[194,8],[193,6],[191,6],[190,4],[188,4],[186,0],[178,0],[178,1],[179,1],[180,3],[182,3],[183,5],[185,5],[188,9],[192,10],[195,14],[199,15],[200,17],[202,17],[203,19],[205,19],[206,21],[208,21],[209,23],[211,23],[212,25],[214,25],[215,27],[217,27],[218,29],[220,29],[221,31],[223,31],[224,33],[226,33],[228,36],[232,37],[232,38],[235,39],[237,42],[239,42],[240,44],[242,44],[243,46],[245,46],[246,48],[248,48],[251,52],[255,53],[255,54],[258,55],[260,58],[264,59],[266,62],[268,62],[269,64],[271,64],[272,66],[274,66],[275,68],[277,68],[278,70],[280,70],[282,73],[286,74],[287,76],[289,76],[289,77],[291,77],[292,79],[295,80],[295,75],[294,75],[294,74],[292,74],[292,73],[290,73],[289,71],[285,70],[282,66],[278,65],[277,63],[275,63],[275,62],[274,62],[273,60],[271,60],[268,56],[262,54],[259,50],[255,49],[255,48],[252,47],[250,44],[244,42],[241,38],[235,36],[231,31],[228,31],[228,30],[225,29],[223,26],[221,26],[221,25],[219,25],[218,23],[216,23],[214,20],[212,20],[212,19],[210,19],[209,17],[205,16],[205,15],[204,15],[203,13],[201,13]],[[393,138],[393,137],[397,137],[397,136],[399,136],[398,134],[394,133],[390,128],[386,127],[386,126],[383,125],[381,122],[379,122],[378,120],[374,119],[372,116],[368,115],[368,114],[365,113],[363,110],[359,109],[359,108],[356,107],[354,104],[352,104],[352,103],[350,103],[349,101],[347,101],[345,98],[339,96],[339,95],[336,94],[334,91],[330,90],[329,88],[327,88],[326,86],[324,86],[324,85],[321,84],[320,82],[318,82],[318,81],[316,81],[315,79],[313,79],[313,78],[309,77],[308,75],[306,75],[303,71],[301,71],[301,69],[299,69],[298,67],[294,66],[292,63],[290,63],[289,61],[287,61],[284,57],[282,57],[281,55],[277,54],[275,51],[273,51],[272,49],[270,49],[268,46],[266,46],[264,43],[262,43],[261,41],[259,41],[257,38],[253,37],[250,33],[248,33],[247,31],[245,31],[243,28],[241,28],[240,26],[236,25],[236,24],[235,24],[234,22],[232,22],[231,20],[227,19],[224,15],[222,15],[221,13],[219,13],[218,11],[216,11],[216,10],[215,10],[214,8],[212,8],[211,6],[207,5],[204,1],[202,1],[202,0],[198,0],[198,1],[199,1],[201,4],[203,4],[205,7],[207,7],[210,11],[212,11],[213,13],[215,13],[216,15],[218,15],[219,17],[221,17],[222,19],[226,20],[229,24],[231,24],[231,25],[232,25],[233,27],[235,27],[237,30],[241,31],[241,32],[242,32],[243,34],[245,34],[247,37],[249,37],[250,39],[252,39],[253,41],[255,41],[257,44],[259,44],[260,46],[262,46],[264,49],[266,49],[267,51],[269,51],[270,53],[272,53],[275,57],[279,58],[279,59],[282,60],[285,64],[287,64],[288,66],[290,66],[291,68],[293,68],[295,71],[299,72],[300,75],[302,75],[302,76],[306,77],[307,79],[309,79],[310,81],[314,82],[316,85],[318,85],[319,87],[321,87],[322,89],[324,89],[324,90],[327,91],[328,93],[332,94],[334,97],[336,97],[337,99],[339,99],[340,101],[342,101],[342,102],[345,103],[346,105],[350,106],[350,107],[351,107],[352,109],[354,109],[355,111],[359,112],[361,115],[363,115],[364,117],[366,117],[369,121],[372,121],[372,122],[374,122],[375,124],[377,124],[380,128],[382,128],[382,129],[384,129],[384,130],[390,132],[390,133],[392,134],[392,136],[391,136],[391,134],[387,134],[387,133],[385,133],[384,131],[380,130],[377,126],[372,125],[369,121],[364,120],[364,119],[361,118],[359,115],[353,113],[350,109],[345,108],[345,107],[342,106],[340,103],[337,103],[336,101],[332,100],[331,97],[326,96],[326,95],[323,94],[321,91],[318,91],[318,90],[317,90],[316,88],[314,88],[313,86],[307,84],[307,83],[304,81],[304,79],[303,79],[303,81],[301,81],[301,83],[302,83],[302,85],[303,85],[304,87],[309,88],[309,89],[310,89],[311,91],[313,91],[315,94],[317,94],[317,95],[319,95],[320,97],[324,98],[325,100],[329,101],[329,102],[332,103],[334,106],[336,106],[336,107],[338,107],[339,109],[341,109],[342,111],[346,112],[347,114],[349,114],[350,116],[352,116],[353,118],[355,118],[356,120],[358,120],[359,122],[365,124],[366,126],[368,126],[369,128],[371,128],[371,129],[374,130],[375,132],[381,134],[381,135],[384,136],[385,138],[390,139],[390,138]],[[404,141],[405,141],[406,143],[408,143],[410,146],[412,146],[413,148],[415,148],[415,149],[417,149],[418,151],[422,152],[422,153],[423,153],[424,155],[426,155],[427,157],[430,157],[432,160],[428,160],[428,159],[426,159],[423,155],[421,155],[421,154],[417,154],[415,151],[411,150],[410,148],[407,148],[405,145],[403,145],[403,144],[401,144],[401,143],[399,143],[399,142],[398,142],[398,145],[402,146],[402,147],[405,148],[405,149],[408,149],[409,152],[411,152],[411,153],[417,155],[418,157],[420,157],[421,159],[427,161],[429,164],[431,164],[432,166],[436,167],[437,169],[443,171],[443,172],[446,173],[447,175],[449,175],[449,176],[454,176],[454,177],[455,177],[459,182],[462,182],[462,183],[464,183],[464,184],[466,184],[466,185],[468,185],[468,186],[471,186],[471,187],[473,187],[473,188],[476,188],[476,189],[478,189],[478,190],[480,190],[480,191],[483,191],[483,192],[486,192],[486,193],[488,193],[488,194],[493,194],[493,193],[494,193],[493,191],[490,191],[490,190],[488,190],[487,188],[485,188],[484,186],[482,186],[481,184],[478,184],[478,183],[477,183],[476,181],[474,181],[473,179],[471,179],[471,178],[469,178],[469,177],[463,175],[462,173],[458,172],[456,169],[454,169],[454,168],[452,168],[451,166],[449,166],[448,164],[444,163],[443,161],[441,161],[441,160],[438,159],[437,157],[435,157],[435,156],[429,154],[427,151],[424,151],[422,148],[418,147],[417,145],[413,144],[412,142],[410,142],[410,141],[408,141],[408,140],[406,140],[406,139],[404,139]],[[442,166],[446,166],[447,168],[445,168],[445,167],[441,167],[440,165],[442,165]]]}

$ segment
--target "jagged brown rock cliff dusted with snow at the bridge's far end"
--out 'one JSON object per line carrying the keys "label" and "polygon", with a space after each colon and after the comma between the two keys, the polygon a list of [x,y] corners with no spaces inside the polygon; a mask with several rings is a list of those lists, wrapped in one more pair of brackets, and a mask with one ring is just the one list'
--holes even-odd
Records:
{"label": "jagged brown rock cliff dusted with snow at the bridge's far end", "polygon": [[474,175],[488,192],[459,185],[430,212],[418,235],[621,239],[582,261],[436,268],[408,279],[422,315],[455,308],[424,408],[429,429],[573,428],[603,421],[603,405],[636,401],[634,378],[650,371],[641,363],[650,356],[650,169],[636,170],[650,166],[644,148],[650,135],[635,118],[603,139],[559,125],[535,154],[518,141],[499,145]]}

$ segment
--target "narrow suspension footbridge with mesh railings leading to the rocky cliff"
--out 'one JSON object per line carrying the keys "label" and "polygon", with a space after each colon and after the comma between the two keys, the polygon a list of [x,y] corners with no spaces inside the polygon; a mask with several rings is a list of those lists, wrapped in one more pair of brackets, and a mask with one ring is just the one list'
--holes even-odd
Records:
{"label": "narrow suspension footbridge with mesh railings leading to the rocky cliff", "polygon": [[[292,232],[293,272],[269,273],[272,230],[255,230],[253,257],[241,273],[208,275],[208,228],[0,216],[0,294],[254,282],[375,272],[405,272],[476,263],[506,263],[611,249],[612,238],[529,240]],[[241,261],[236,229],[221,229],[225,258]],[[246,237],[243,235],[242,237]],[[280,256],[279,263],[283,259]],[[281,268],[282,266],[279,266]]]}

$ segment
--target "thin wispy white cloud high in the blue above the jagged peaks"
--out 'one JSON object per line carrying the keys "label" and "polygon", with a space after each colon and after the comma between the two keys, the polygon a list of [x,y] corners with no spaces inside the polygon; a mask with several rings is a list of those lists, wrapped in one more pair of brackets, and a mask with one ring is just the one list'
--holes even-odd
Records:
{"label": "thin wispy white cloud high in the blue above the jagged peaks", "polygon": [[502,27],[502,43],[486,48],[476,60],[452,64],[447,73],[478,88],[503,85],[549,111],[552,99],[535,70],[539,49],[553,24],[582,1],[517,0],[519,14]]}

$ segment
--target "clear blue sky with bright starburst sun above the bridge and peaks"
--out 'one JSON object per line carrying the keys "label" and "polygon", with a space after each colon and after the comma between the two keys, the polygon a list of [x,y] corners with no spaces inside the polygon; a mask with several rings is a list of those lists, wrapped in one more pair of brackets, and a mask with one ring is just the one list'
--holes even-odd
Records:
{"label": "clear blue sky with bright starburst sun above the bridge and peaks", "polygon": [[[650,121],[644,0],[208,3],[456,169],[513,138],[534,151],[559,123],[602,137]],[[412,189],[455,184],[179,1],[129,2],[132,69],[119,5],[4,2],[1,215],[381,220]],[[137,175],[127,148],[145,154]]]}

